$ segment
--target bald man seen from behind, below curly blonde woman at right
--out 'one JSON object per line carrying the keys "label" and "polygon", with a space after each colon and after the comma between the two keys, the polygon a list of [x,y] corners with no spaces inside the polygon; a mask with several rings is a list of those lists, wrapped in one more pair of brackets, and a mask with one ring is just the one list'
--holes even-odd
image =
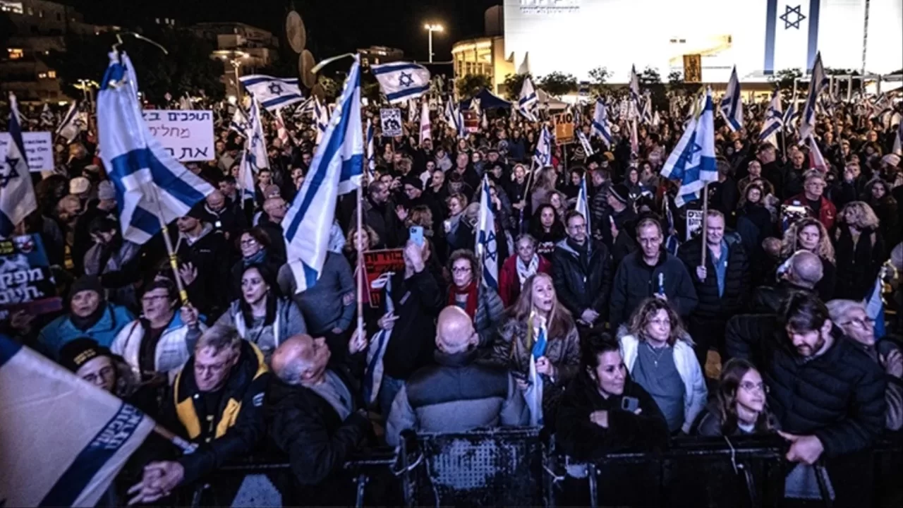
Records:
{"label": "bald man seen from behind, below curly blonde woman at right", "polygon": [[822,260],[808,250],[797,250],[781,268],[777,286],[757,287],[752,295],[751,309],[755,314],[777,314],[782,302],[797,291],[816,293],[815,286],[824,275]]}

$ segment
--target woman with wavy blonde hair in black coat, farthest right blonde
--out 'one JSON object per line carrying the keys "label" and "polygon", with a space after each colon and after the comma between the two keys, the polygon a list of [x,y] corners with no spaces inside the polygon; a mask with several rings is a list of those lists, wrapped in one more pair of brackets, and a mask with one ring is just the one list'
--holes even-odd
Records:
{"label": "woman with wavy blonde hair in black coat, farthest right blonde", "polygon": [[837,261],[835,298],[861,300],[875,287],[887,259],[878,217],[865,202],[847,203],[837,215],[832,240]]}

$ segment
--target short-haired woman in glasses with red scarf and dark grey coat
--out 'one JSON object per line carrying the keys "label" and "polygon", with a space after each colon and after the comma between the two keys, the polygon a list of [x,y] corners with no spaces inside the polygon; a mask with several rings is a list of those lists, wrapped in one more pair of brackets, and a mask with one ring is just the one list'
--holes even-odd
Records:
{"label": "short-haired woman in glasses with red scarf and dark grey coat", "polygon": [[489,348],[496,336],[496,329],[505,313],[505,305],[495,289],[479,283],[479,263],[470,250],[455,250],[449,257],[452,285],[449,287],[448,305],[459,306],[470,315],[473,327],[479,334],[479,347]]}

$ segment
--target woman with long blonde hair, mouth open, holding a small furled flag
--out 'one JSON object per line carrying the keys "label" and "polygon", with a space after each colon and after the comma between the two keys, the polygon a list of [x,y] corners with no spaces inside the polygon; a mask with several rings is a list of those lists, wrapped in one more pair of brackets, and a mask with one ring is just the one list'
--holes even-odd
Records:
{"label": "woman with long blonde hair, mouth open, holding a small furled flag", "polygon": [[554,421],[558,400],[580,369],[580,335],[571,313],[555,296],[548,274],[538,272],[526,278],[517,302],[507,310],[498,329],[492,362],[510,369],[518,385],[526,389],[530,355],[544,324],[545,351],[537,352],[535,364],[536,372],[543,376],[543,416],[545,421]]}

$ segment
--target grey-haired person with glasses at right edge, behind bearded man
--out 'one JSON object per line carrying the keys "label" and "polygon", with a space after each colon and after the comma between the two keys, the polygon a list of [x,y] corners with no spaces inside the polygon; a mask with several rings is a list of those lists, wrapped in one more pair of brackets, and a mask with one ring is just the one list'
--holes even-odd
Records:
{"label": "grey-haired person with glasses at right edge, behind bearded man", "polygon": [[888,405],[885,425],[889,430],[903,428],[903,353],[893,341],[875,336],[875,321],[861,302],[831,300],[828,313],[843,334],[861,346],[862,351],[878,363],[887,374],[884,400]]}

